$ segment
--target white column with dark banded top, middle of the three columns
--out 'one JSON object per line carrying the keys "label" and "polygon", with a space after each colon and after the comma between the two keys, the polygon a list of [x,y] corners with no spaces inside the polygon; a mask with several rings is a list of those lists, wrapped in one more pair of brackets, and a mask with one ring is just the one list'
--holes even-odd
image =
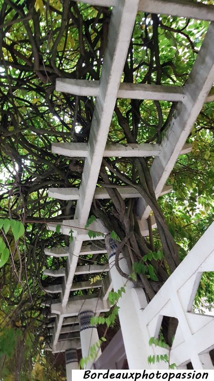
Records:
{"label": "white column with dark banded top, middle of the three columns", "polygon": [[[91,310],[81,311],[78,315],[83,358],[88,357],[91,346],[99,342],[97,327],[96,325],[91,325],[91,318],[94,316],[95,314]],[[101,354],[101,348],[97,349],[96,358],[89,359],[84,369],[92,369],[94,362],[100,357]]]}

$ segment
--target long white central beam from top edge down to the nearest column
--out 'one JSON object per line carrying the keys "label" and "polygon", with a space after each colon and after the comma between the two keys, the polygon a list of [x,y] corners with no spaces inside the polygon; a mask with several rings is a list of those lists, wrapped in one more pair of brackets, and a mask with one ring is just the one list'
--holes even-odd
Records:
{"label": "long white central beam from top edge down to the nearest column", "polygon": [[89,135],[89,154],[84,164],[75,211],[75,218],[79,219],[80,224],[87,222],[93,201],[138,5],[139,0],[124,0],[117,2],[112,10],[100,90]]}

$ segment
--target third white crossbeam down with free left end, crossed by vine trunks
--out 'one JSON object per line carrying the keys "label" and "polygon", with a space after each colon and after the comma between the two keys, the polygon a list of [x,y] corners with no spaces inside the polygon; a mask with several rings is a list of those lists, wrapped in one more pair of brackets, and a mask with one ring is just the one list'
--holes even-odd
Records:
{"label": "third white crossbeam down with free left end, crossed by vine trunks", "polygon": [[[122,198],[138,198],[141,197],[140,193],[133,187],[118,187],[116,188]],[[161,194],[170,193],[172,187],[164,185]],[[78,188],[49,188],[49,197],[57,198],[59,200],[78,200],[79,189]],[[96,188],[95,199],[109,199],[110,196],[106,188]]]}

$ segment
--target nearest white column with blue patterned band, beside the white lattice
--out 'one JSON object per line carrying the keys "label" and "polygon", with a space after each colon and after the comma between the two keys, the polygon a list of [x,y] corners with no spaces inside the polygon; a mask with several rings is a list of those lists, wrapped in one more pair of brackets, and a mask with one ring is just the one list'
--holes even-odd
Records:
{"label": "nearest white column with blue patterned band, beside the white lattice", "polygon": [[[109,241],[110,240],[110,241]],[[148,369],[148,354],[145,351],[144,335],[141,327],[141,308],[147,306],[142,288],[134,287],[133,282],[122,277],[115,267],[116,241],[106,238],[110,276],[114,291],[125,286],[125,293],[119,298],[119,321],[129,369]],[[126,259],[119,256],[119,267],[129,274]]]}

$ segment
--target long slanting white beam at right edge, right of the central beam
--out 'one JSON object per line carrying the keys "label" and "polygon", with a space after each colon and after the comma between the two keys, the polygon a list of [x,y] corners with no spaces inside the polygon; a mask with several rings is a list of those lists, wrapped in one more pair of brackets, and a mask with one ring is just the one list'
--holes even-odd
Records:
{"label": "long slanting white beam at right edge, right of the central beam", "polygon": [[[214,23],[210,24],[201,50],[185,85],[185,101],[178,103],[166,135],[160,145],[160,155],[154,159],[151,177],[155,193],[159,196],[177,157],[195,123],[214,83]],[[203,70],[201,70],[203,65]],[[150,207],[139,198],[138,213],[147,219]]]}

